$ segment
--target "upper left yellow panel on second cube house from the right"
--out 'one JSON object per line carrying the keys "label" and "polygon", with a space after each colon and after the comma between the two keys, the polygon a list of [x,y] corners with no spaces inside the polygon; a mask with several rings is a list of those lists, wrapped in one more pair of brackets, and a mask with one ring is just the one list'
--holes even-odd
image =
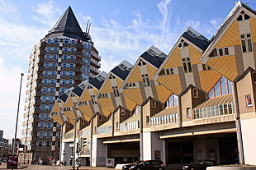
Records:
{"label": "upper left yellow panel on second cube house from the right", "polygon": [[179,48],[175,48],[173,53],[168,56],[167,61],[164,63],[163,68],[173,68],[173,67],[181,67],[183,66],[182,59],[180,57]]}

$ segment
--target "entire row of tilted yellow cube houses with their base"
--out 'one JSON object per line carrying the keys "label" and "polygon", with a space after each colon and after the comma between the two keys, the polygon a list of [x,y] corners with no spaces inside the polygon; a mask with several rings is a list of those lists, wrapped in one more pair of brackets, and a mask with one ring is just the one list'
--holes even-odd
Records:
{"label": "entire row of tilted yellow cube houses with their base", "polygon": [[161,159],[173,168],[196,159],[256,164],[255,14],[238,2],[212,39],[189,27],[168,55],[152,46],[101,85],[93,85],[96,77],[81,94],[59,96],[52,118],[63,126],[62,161],[74,147],[90,166],[107,159]]}

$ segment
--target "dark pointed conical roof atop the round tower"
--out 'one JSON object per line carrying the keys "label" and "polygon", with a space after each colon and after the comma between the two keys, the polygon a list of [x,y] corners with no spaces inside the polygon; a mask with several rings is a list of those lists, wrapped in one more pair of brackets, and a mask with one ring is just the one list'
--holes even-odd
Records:
{"label": "dark pointed conical roof atop the round tower", "polygon": [[84,33],[78,24],[77,18],[74,16],[72,8],[69,6],[68,9],[60,16],[59,21],[56,22],[55,26],[49,31],[46,37],[58,37],[67,36],[72,39],[81,39],[83,41],[89,40],[89,36]]}

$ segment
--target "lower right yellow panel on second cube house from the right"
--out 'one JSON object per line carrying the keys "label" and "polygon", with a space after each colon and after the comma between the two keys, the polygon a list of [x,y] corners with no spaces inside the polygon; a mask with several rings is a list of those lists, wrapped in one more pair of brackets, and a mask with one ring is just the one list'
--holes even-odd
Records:
{"label": "lower right yellow panel on second cube house from the right", "polygon": [[200,71],[199,78],[201,83],[201,90],[204,90],[208,93],[213,85],[216,84],[216,81],[220,79],[220,77],[220,74],[213,70]]}

